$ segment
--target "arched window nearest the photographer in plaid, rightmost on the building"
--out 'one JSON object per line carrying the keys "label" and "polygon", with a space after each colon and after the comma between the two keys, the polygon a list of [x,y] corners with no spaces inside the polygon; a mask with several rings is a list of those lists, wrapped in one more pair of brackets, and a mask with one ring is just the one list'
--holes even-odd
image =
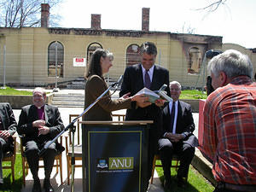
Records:
{"label": "arched window nearest the photographer in plaid, rightmost on the building", "polygon": [[201,50],[197,47],[192,47],[189,49],[189,63],[188,63],[188,73],[195,74],[200,73],[201,67]]}

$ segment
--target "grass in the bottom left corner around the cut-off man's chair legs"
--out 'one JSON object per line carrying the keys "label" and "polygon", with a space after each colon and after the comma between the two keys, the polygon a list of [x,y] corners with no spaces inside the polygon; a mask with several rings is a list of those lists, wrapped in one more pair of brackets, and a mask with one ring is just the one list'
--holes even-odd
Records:
{"label": "grass in the bottom left corner around the cut-off man's chair legs", "polygon": [[[10,165],[10,162],[3,162],[4,165]],[[0,187],[0,191],[12,191],[20,192],[22,188],[22,163],[21,154],[16,154],[15,160],[15,183],[12,182],[12,172],[10,169],[3,169],[3,186]]]}

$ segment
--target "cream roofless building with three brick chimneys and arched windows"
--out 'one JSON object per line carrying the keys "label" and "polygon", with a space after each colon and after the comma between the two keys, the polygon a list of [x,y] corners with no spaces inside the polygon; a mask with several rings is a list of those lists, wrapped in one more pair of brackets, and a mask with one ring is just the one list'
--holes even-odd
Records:
{"label": "cream roofless building with three brick chimneys and arched windows", "polygon": [[75,61],[90,61],[96,48],[113,52],[113,67],[108,73],[118,79],[125,67],[139,62],[138,47],[154,42],[158,48],[156,63],[166,67],[170,80],[185,87],[202,87],[207,76],[208,49],[238,49],[250,56],[256,68],[255,53],[236,44],[222,44],[222,37],[149,31],[149,9],[143,8],[142,30],[107,30],[101,27],[101,15],[91,15],[91,27],[53,28],[49,25],[49,5],[42,4],[41,26],[0,28],[0,82],[10,85],[44,86],[84,76],[86,67]]}

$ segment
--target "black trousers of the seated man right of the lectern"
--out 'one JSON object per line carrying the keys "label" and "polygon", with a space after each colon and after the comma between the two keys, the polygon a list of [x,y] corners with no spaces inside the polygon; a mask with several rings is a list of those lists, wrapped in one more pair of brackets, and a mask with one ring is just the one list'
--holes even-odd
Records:
{"label": "black trousers of the seated man right of the lectern", "polygon": [[171,180],[172,155],[177,154],[180,159],[180,166],[177,170],[177,177],[186,177],[189,172],[189,165],[194,157],[195,148],[188,143],[172,143],[169,139],[159,140],[160,159],[166,180]]}

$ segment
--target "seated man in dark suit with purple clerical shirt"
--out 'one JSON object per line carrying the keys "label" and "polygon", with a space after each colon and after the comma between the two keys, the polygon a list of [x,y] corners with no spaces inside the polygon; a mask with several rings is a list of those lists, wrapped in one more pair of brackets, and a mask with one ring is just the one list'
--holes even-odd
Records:
{"label": "seated man in dark suit with purple clerical shirt", "polygon": [[[21,109],[17,129],[18,133],[23,136],[23,144],[26,146],[26,160],[34,179],[33,192],[41,191],[38,177],[38,152],[64,128],[58,108],[45,104],[45,101],[46,92],[43,88],[33,90],[33,105],[27,105]],[[54,191],[49,182],[49,177],[54,165],[55,155],[60,148],[59,143],[52,143],[43,154],[44,189],[46,192]]]}

